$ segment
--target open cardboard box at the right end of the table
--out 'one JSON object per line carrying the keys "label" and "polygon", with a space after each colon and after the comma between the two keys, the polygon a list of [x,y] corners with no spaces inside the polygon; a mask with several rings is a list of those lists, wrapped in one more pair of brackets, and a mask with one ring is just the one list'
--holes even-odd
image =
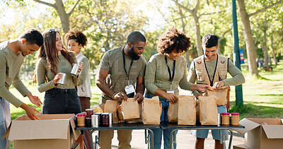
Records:
{"label": "open cardboard box at the right end of the table", "polygon": [[237,129],[245,134],[245,143],[248,148],[266,149],[282,148],[283,124],[282,119],[242,119],[240,124],[245,129]]}

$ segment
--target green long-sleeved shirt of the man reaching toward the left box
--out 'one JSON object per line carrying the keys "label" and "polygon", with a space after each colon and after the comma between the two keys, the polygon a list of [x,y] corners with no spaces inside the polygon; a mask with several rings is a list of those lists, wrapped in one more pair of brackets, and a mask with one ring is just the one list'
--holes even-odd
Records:
{"label": "green long-sleeved shirt of the man reaching toward the left box", "polygon": [[15,107],[20,107],[23,102],[10,93],[8,88],[13,85],[23,96],[30,92],[18,77],[25,57],[21,52],[18,55],[12,52],[8,48],[8,42],[0,44],[0,97],[3,97]]}

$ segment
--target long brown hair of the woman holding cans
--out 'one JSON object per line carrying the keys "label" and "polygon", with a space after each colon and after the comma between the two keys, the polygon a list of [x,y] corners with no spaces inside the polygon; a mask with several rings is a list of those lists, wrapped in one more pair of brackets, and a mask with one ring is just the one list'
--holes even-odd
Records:
{"label": "long brown hair of the woman holding cans", "polygon": [[[58,30],[47,29],[43,32],[43,45],[40,47],[40,52],[38,53],[37,59],[40,57],[45,57],[47,59],[47,64],[50,66],[51,72],[54,75],[57,74],[57,64],[59,63],[59,55],[56,48],[56,33]],[[72,65],[75,63],[74,57],[71,54],[74,52],[69,52],[64,45],[62,45],[61,54],[69,61]]]}

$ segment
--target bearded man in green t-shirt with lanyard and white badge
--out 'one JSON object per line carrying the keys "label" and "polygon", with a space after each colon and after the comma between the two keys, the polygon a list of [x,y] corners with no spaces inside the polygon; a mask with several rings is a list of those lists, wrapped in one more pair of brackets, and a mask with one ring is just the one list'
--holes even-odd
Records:
{"label": "bearded man in green t-shirt with lanyard and white badge", "polygon": [[[110,49],[103,55],[98,67],[96,85],[103,91],[100,107],[106,100],[127,100],[134,97],[139,103],[144,100],[144,71],[146,59],[141,56],[146,47],[146,38],[141,32],[131,32],[127,44]],[[135,88],[134,88],[135,86]],[[111,148],[114,131],[100,131],[100,148]],[[117,130],[118,148],[131,148],[132,130]]]}

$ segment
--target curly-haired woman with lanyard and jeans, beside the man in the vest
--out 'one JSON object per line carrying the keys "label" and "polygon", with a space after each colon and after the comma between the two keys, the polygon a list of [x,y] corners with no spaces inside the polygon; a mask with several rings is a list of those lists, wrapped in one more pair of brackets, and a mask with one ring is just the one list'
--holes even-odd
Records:
{"label": "curly-haired woman with lanyard and jeans, beside the man in the vest", "polygon": [[[161,121],[168,121],[169,102],[178,101],[178,86],[184,90],[207,90],[209,85],[192,84],[187,81],[187,63],[183,52],[190,48],[190,37],[177,28],[169,28],[159,37],[157,52],[149,59],[144,76],[146,94],[151,98],[158,95],[162,104]],[[164,148],[169,148],[172,129],[152,129],[154,131],[154,149],[161,148],[163,133]],[[163,132],[162,132],[163,131]],[[174,148],[176,144],[174,143]]]}

